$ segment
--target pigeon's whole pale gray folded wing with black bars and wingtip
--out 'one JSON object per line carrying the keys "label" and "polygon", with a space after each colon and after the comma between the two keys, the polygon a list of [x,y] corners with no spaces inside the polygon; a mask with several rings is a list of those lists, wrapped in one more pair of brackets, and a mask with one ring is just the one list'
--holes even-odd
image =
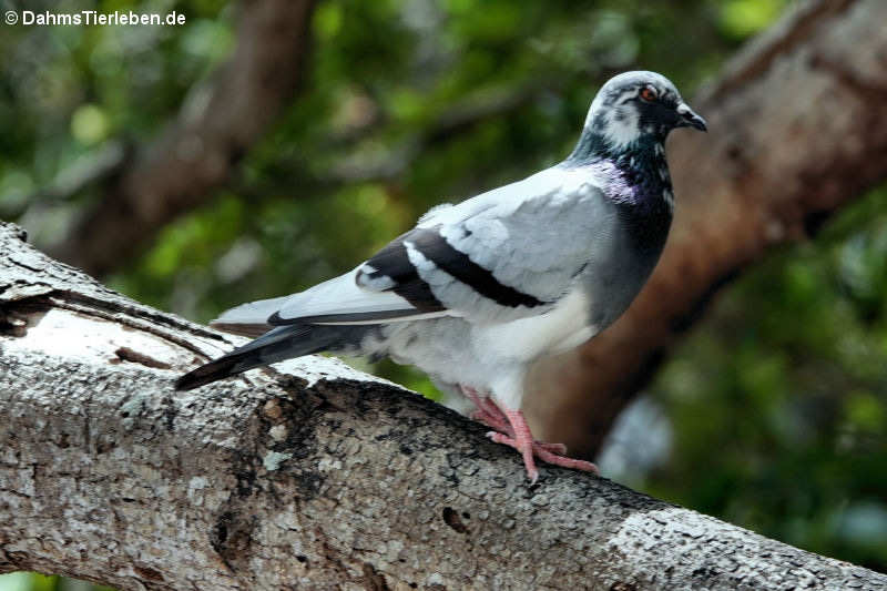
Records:
{"label": "pigeon's whole pale gray folded wing with black bars and wingtip", "polygon": [[285,298],[245,304],[215,325],[370,324],[543,314],[588,263],[606,227],[588,174],[549,169],[459,205],[436,207],[348,274]]}

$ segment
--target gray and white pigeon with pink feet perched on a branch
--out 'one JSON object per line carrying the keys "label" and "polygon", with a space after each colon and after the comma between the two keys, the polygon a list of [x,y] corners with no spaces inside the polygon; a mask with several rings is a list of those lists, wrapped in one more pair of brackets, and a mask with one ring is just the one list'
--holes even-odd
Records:
{"label": "gray and white pigeon with pink feet perched on a branch", "polygon": [[212,326],[257,338],[176,388],[319,351],[389,357],[470,401],[532,482],[537,459],[597,473],[563,445],[533,438],[524,378],[531,364],[616,320],[652,273],[674,208],[664,142],[676,128],[706,131],[665,77],[612,78],[563,162],[431,208],[341,276],[223,313]]}

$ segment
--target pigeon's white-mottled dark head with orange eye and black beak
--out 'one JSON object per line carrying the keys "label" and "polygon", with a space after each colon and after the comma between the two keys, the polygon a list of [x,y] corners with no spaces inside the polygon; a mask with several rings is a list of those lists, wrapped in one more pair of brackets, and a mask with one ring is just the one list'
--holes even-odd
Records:
{"label": "pigeon's white-mottled dark head with orange eye and black beak", "polygon": [[611,78],[585,119],[585,132],[616,150],[643,139],[662,142],[675,128],[706,131],[705,120],[693,112],[667,78],[645,71]]}

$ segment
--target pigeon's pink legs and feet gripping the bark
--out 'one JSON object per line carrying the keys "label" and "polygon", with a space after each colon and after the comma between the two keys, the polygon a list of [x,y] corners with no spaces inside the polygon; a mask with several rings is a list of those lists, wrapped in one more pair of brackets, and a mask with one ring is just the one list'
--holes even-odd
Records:
{"label": "pigeon's pink legs and feet gripping the bark", "polygon": [[497,444],[514,448],[523,456],[523,466],[532,482],[539,478],[534,458],[564,468],[599,473],[598,467],[592,462],[568,458],[567,446],[563,444],[534,440],[520,410],[502,411],[492,398],[480,395],[475,388],[461,386],[461,390],[475,404],[476,410],[471,414],[471,418],[496,429],[488,432],[487,437]]}

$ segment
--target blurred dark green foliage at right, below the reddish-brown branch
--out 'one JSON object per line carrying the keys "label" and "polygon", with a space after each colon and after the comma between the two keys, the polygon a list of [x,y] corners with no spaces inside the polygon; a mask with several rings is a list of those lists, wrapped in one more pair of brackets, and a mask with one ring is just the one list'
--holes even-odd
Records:
{"label": "blurred dark green foliage at right, below the reddish-brown branch", "polygon": [[887,570],[887,188],[731,287],[652,391],[651,495]]}

